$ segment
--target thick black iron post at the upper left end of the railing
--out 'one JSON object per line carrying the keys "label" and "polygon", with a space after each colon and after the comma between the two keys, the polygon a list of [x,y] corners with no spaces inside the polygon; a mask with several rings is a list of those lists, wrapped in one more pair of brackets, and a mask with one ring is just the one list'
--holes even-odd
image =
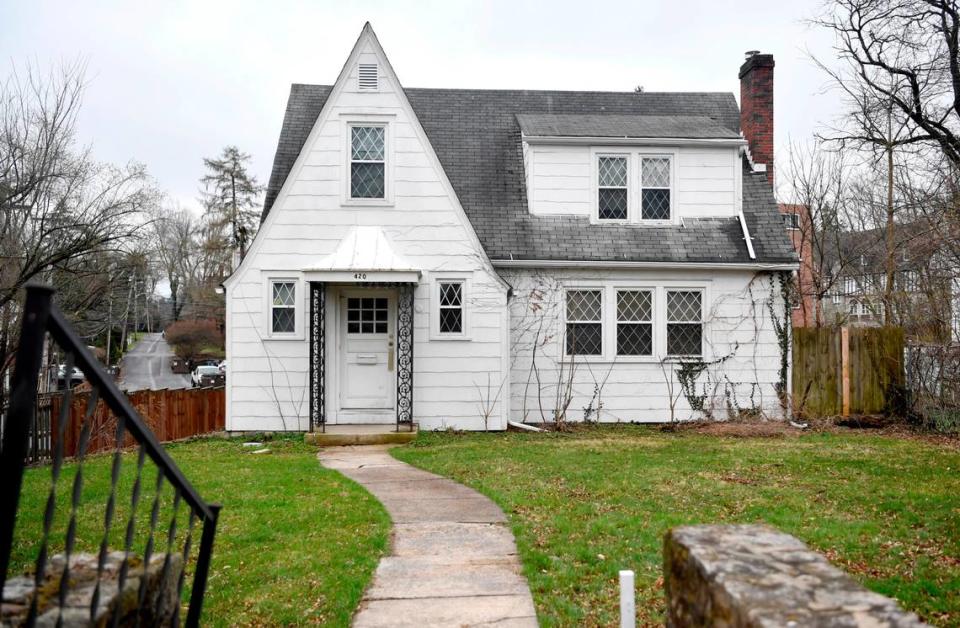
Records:
{"label": "thick black iron post at the upper left end of the railing", "polygon": [[49,286],[27,286],[20,345],[17,347],[14,363],[10,409],[3,426],[3,449],[0,449],[0,477],[3,478],[0,482],[0,587],[7,581],[30,425],[36,412],[43,340],[52,298],[53,289]]}

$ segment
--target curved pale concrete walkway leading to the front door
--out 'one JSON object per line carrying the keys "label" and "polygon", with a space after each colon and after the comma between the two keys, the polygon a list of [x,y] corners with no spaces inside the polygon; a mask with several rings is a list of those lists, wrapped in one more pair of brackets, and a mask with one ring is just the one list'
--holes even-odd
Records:
{"label": "curved pale concrete walkway leading to the front door", "polygon": [[331,447],[320,461],[373,493],[393,519],[390,553],[354,626],[537,625],[513,534],[496,504],[396,460],[386,446]]}

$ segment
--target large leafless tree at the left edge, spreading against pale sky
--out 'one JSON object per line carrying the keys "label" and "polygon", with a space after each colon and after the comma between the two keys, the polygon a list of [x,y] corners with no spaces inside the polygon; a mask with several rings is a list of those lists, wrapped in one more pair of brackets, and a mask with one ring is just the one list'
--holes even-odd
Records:
{"label": "large leafless tree at the left edge, spreading against pale sky", "polygon": [[80,64],[48,73],[14,67],[0,85],[0,381],[16,344],[21,288],[119,250],[153,194],[143,166],[101,164],[77,147],[83,88]]}

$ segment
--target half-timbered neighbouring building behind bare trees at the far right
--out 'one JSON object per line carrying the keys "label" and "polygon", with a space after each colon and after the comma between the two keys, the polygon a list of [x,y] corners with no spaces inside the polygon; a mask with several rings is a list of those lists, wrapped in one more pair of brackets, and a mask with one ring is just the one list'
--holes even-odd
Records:
{"label": "half-timbered neighbouring building behind bare trees at the far right", "polygon": [[[892,324],[908,338],[923,341],[958,339],[957,273],[939,250],[937,230],[918,220],[894,230],[895,266]],[[827,251],[825,268],[832,289],[821,305],[826,321],[878,326],[885,321],[887,264],[884,227],[840,234]]]}

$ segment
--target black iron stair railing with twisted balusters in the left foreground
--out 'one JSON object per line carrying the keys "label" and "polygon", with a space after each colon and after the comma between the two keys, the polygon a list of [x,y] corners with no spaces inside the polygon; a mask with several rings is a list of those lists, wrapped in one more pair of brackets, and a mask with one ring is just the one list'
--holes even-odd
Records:
{"label": "black iron stair railing with twisted balusters in the left foreground", "polygon": [[[106,370],[100,365],[95,357],[86,348],[76,332],[70,327],[64,315],[53,304],[53,290],[46,286],[28,286],[27,297],[22,310],[22,323],[20,331],[20,344],[17,348],[16,362],[12,380],[12,395],[10,398],[9,412],[6,415],[3,425],[2,449],[0,449],[0,584],[6,582],[7,573],[11,566],[12,548],[14,542],[14,527],[17,524],[20,510],[20,492],[23,484],[23,474],[26,462],[26,455],[30,446],[31,438],[36,438],[36,434],[31,434],[31,425],[34,423],[34,413],[37,405],[37,389],[40,378],[41,366],[44,356],[44,346],[47,343],[47,335],[53,341],[50,346],[51,352],[61,352],[65,357],[63,372],[70,377],[74,373],[74,367],[82,371],[87,384],[90,386],[90,394],[87,398],[87,408],[83,423],[80,427],[79,441],[77,444],[77,453],[74,458],[75,471],[73,473],[72,493],[68,492],[66,500],[58,500],[58,479],[63,467],[65,449],[64,443],[67,437],[67,422],[70,416],[70,407],[73,403],[73,394],[69,385],[63,393],[60,402],[60,411],[57,417],[57,424],[53,438],[53,458],[50,462],[51,483],[47,492],[46,509],[43,514],[43,521],[38,522],[30,516],[25,516],[20,521],[21,526],[26,526],[33,534],[31,526],[39,524],[42,529],[38,531],[36,537],[40,540],[39,549],[36,558],[33,561],[33,588],[29,594],[27,602],[28,610],[25,618],[25,624],[32,626],[38,619],[43,622],[49,621],[50,614],[56,615],[54,621],[57,625],[63,619],[63,608],[66,601],[71,597],[72,568],[74,563],[71,559],[79,560],[78,553],[84,547],[90,547],[92,555],[96,557],[96,584],[92,590],[89,608],[89,618],[91,624],[99,621],[98,618],[106,608],[101,604],[101,596],[105,591],[116,590],[125,592],[125,586],[129,584],[136,587],[135,599],[137,616],[150,617],[150,610],[153,608],[159,613],[161,603],[151,602],[146,595],[146,576],[137,576],[133,571],[140,565],[141,569],[146,569],[151,565],[151,558],[159,559],[163,556],[163,562],[160,572],[160,581],[158,588],[161,591],[168,590],[171,587],[175,591],[175,597],[172,600],[172,623],[179,625],[180,622],[180,594],[184,589],[185,576],[189,568],[188,562],[192,560],[191,548],[193,547],[194,527],[197,522],[202,525],[200,545],[196,557],[196,564],[193,568],[193,581],[190,588],[190,601],[187,608],[186,625],[197,626],[200,622],[200,613],[203,605],[203,595],[206,589],[207,574],[210,568],[210,559],[213,552],[213,539],[217,528],[217,518],[220,512],[220,506],[204,501],[197,491],[193,488],[187,478],[183,475],[173,459],[170,458],[166,450],[159,443],[157,438],[150,431],[146,422],[140,416],[136,409],[131,405],[126,395],[120,392],[117,385],[113,382]],[[103,430],[104,426],[94,428],[91,417],[93,409],[98,400],[102,400],[110,409],[115,418],[115,427],[111,426],[109,430]],[[92,434],[92,430],[102,431],[103,434]],[[85,503],[84,495],[84,471],[93,473],[92,468],[85,467],[85,457],[87,447],[93,438],[113,439],[113,460],[110,470],[110,492],[107,502],[104,505],[104,514],[100,519],[103,522],[103,530],[98,531],[96,538],[91,538],[86,532],[78,532],[77,519],[81,508],[89,509],[89,504]],[[130,496],[120,499],[119,493],[127,488],[127,484],[120,482],[121,466],[124,464],[124,449],[130,444],[135,446],[136,455],[134,457],[134,481],[130,490]],[[149,459],[156,466],[156,475],[151,477],[149,472],[145,471],[144,463]],[[63,483],[65,480],[60,480]],[[169,485],[169,489],[164,489],[164,485]],[[61,487],[60,490],[63,490]],[[138,521],[137,511],[141,502],[141,495],[152,502],[148,513],[147,524],[144,526],[142,521]],[[161,504],[161,498],[164,503]],[[69,524],[64,533],[54,532],[54,526],[59,526],[61,517],[56,516],[57,502],[66,501],[69,511]],[[96,504],[99,506],[100,504]],[[184,505],[186,510],[184,510]],[[141,509],[142,510],[142,509]],[[160,512],[164,512],[163,521],[167,523],[165,531],[158,530],[160,521]],[[143,513],[141,513],[143,515]],[[124,522],[123,519],[126,519]],[[116,520],[116,521],[115,521]],[[125,523],[125,526],[123,525]],[[101,590],[101,581],[107,581],[105,564],[113,560],[114,552],[110,551],[110,545],[114,542],[115,535],[111,533],[113,525],[116,524],[117,531],[125,529],[122,541],[120,556],[122,560],[117,572],[117,581],[111,587],[104,587]],[[147,538],[143,545],[143,554],[135,555],[136,545],[139,546],[138,530],[146,528]],[[62,541],[61,541],[62,540]],[[55,557],[49,557],[49,554],[60,547],[62,542],[62,559],[57,567]],[[176,543],[175,543],[176,542]],[[99,547],[99,550],[96,548]],[[163,552],[162,554],[159,552]],[[177,558],[174,558],[174,557]],[[172,566],[179,563],[179,575]],[[18,564],[23,565],[21,560]],[[48,568],[55,573],[57,569],[62,570],[59,573],[59,586],[57,591],[48,595],[41,595],[44,590],[44,581],[48,575]],[[128,571],[130,570],[130,571]],[[176,578],[176,582],[173,581]],[[168,583],[168,579],[169,583]],[[138,582],[139,580],[139,582]],[[160,597],[157,598],[158,600]],[[84,602],[86,604],[86,602]],[[156,606],[154,606],[154,604]],[[42,615],[42,617],[41,617]],[[119,614],[114,614],[114,625],[117,624]]]}

